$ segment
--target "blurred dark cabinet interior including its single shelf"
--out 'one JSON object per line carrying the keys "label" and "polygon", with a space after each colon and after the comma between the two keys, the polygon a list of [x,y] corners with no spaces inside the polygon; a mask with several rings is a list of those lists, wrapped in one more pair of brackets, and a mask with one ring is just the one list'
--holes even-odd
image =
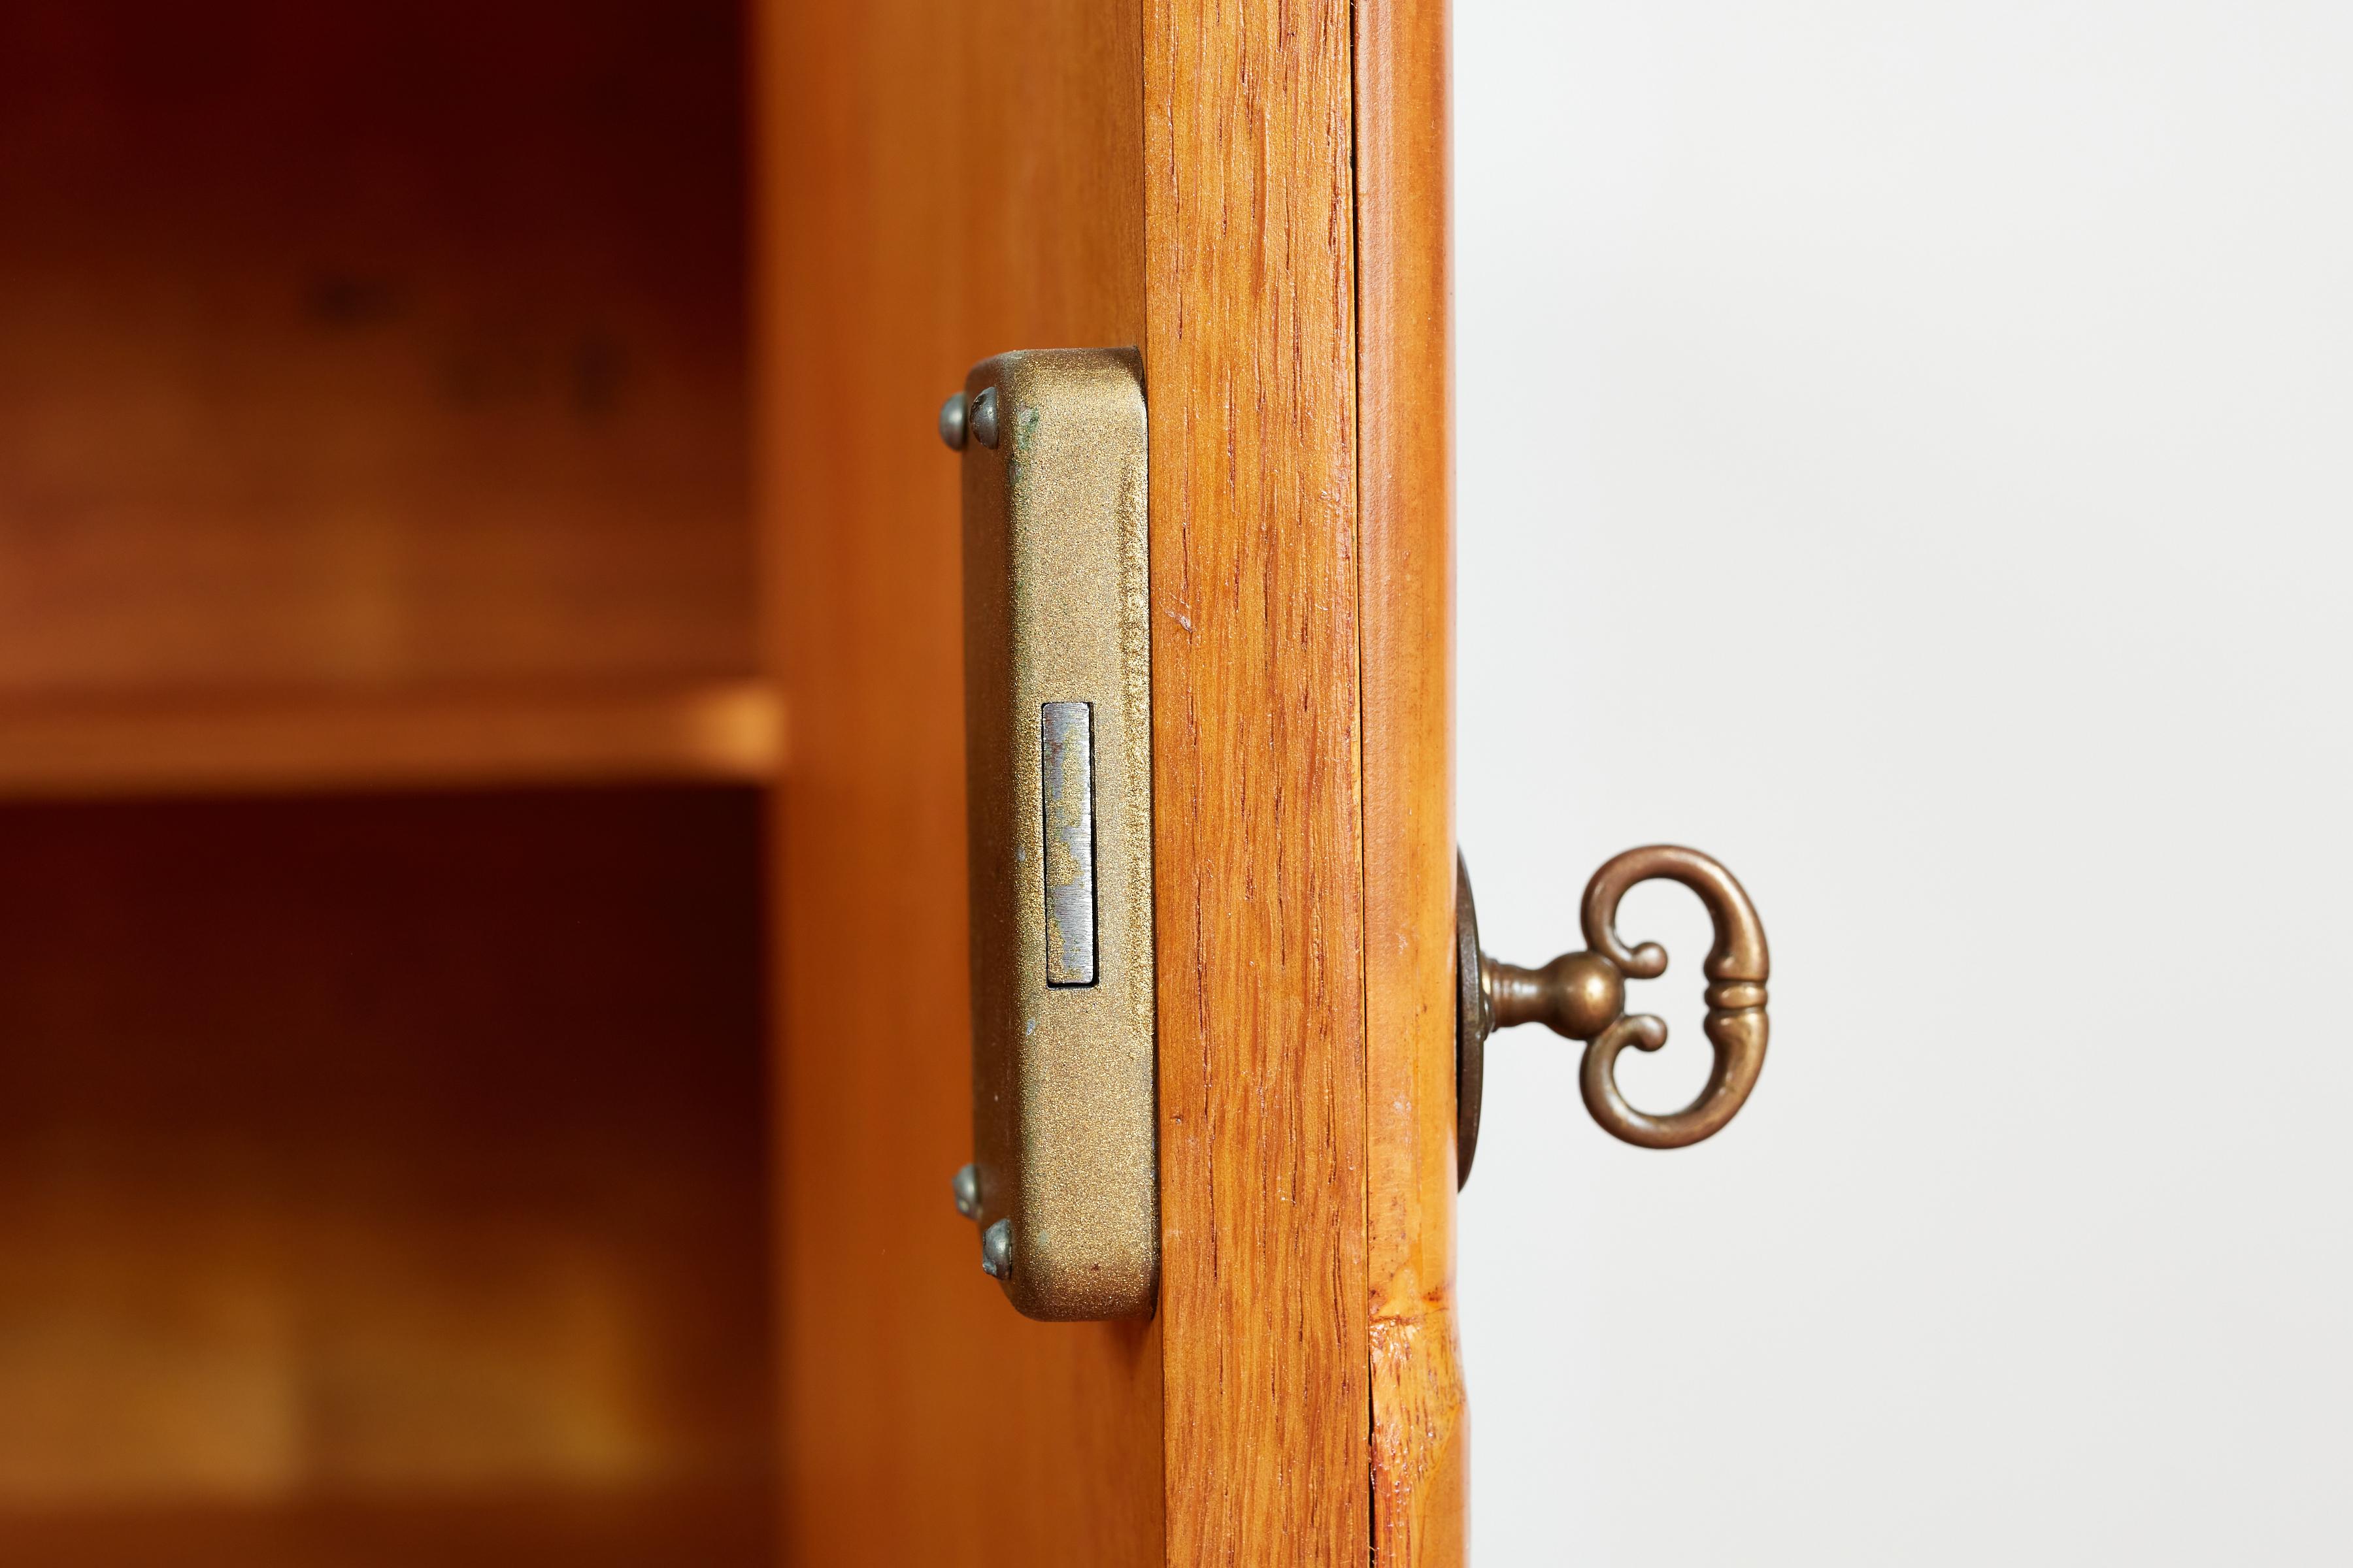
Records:
{"label": "blurred dark cabinet interior including its single shelf", "polygon": [[744,75],[0,7],[0,1561],[772,1556]]}

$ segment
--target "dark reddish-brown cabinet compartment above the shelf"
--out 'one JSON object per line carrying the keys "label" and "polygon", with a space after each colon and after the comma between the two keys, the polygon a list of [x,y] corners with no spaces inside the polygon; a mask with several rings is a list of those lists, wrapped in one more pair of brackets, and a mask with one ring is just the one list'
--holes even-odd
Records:
{"label": "dark reddish-brown cabinet compartment above the shelf", "polygon": [[0,7],[0,696],[753,670],[732,0]]}

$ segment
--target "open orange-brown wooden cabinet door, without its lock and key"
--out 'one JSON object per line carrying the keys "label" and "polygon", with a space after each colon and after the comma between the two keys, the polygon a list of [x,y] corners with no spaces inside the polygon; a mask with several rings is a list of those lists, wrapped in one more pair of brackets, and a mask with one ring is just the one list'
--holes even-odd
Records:
{"label": "open orange-brown wooden cabinet door, without its lock and key", "polygon": [[[758,14],[786,1542],[1461,1556],[1445,9]],[[969,1154],[967,364],[1139,346],[1160,1309],[1033,1324]]]}

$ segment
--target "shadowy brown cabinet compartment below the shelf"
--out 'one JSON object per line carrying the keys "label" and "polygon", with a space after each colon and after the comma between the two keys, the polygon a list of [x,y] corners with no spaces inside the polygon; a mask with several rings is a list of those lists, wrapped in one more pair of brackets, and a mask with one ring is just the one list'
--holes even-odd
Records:
{"label": "shadowy brown cabinet compartment below the shelf", "polygon": [[0,811],[0,1561],[765,1561],[758,856],[753,790]]}

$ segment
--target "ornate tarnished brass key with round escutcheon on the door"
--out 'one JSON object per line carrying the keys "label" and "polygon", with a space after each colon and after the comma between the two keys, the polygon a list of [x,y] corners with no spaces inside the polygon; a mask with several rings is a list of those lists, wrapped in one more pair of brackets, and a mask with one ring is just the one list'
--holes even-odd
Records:
{"label": "ornate tarnished brass key with round escutcheon on the door", "polygon": [[[1657,1051],[1666,1044],[1666,1023],[1649,1013],[1626,1016],[1626,980],[1657,980],[1666,973],[1666,950],[1659,943],[1628,947],[1617,933],[1619,900],[1628,889],[1652,879],[1680,882],[1699,893],[1715,922],[1715,945],[1708,950],[1708,1016],[1701,1027],[1715,1048],[1715,1065],[1699,1098],[1673,1114],[1652,1117],[1626,1103],[1617,1086],[1617,1058],[1626,1046]],[[1471,879],[1457,889],[1457,922],[1473,933],[1478,912],[1471,905]],[[1565,952],[1544,969],[1520,969],[1487,954],[1478,957],[1482,1009],[1466,1009],[1457,1023],[1461,1060],[1485,1058],[1485,1032],[1520,1023],[1541,1023],[1555,1034],[1581,1039],[1586,1060],[1579,1086],[1586,1110],[1617,1138],[1645,1150],[1680,1150],[1713,1135],[1748,1100],[1765,1067],[1765,980],[1772,959],[1765,950],[1765,924],[1748,893],[1722,865],[1697,849],[1652,844],[1628,849],[1593,872],[1584,900],[1586,952]],[[1473,1027],[1485,1025],[1485,1027]],[[1478,1138],[1475,1100],[1471,1133]],[[1468,1159],[1459,1161],[1468,1175]]]}

